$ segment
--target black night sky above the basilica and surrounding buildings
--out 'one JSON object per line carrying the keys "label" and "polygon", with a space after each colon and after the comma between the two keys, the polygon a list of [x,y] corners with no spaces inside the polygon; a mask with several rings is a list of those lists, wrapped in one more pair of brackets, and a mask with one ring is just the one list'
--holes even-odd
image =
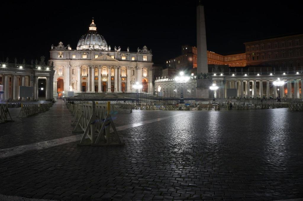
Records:
{"label": "black night sky above the basilica and surrounding buildings", "polygon": [[[47,4],[45,4],[47,2]],[[108,45],[136,51],[146,45],[155,64],[181,54],[181,45],[196,46],[197,1],[45,1],[2,2],[0,61],[44,55],[62,41],[76,48],[92,17]],[[302,5],[277,1],[202,1],[207,49],[219,54],[245,51],[244,42],[303,33]],[[249,3],[250,5],[247,5]]]}

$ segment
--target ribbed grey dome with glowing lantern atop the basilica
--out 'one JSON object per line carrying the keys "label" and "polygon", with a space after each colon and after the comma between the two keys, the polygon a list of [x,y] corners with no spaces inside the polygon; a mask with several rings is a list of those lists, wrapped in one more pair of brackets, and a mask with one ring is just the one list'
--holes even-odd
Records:
{"label": "ribbed grey dome with glowing lantern atop the basilica", "polygon": [[105,39],[97,32],[94,20],[92,20],[88,32],[81,36],[77,45],[77,50],[108,50]]}

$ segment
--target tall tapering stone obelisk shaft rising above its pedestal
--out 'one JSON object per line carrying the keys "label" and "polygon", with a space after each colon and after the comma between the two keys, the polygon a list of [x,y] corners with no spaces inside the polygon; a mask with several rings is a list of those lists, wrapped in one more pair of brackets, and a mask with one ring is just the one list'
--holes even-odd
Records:
{"label": "tall tapering stone obelisk shaft rising above its pedestal", "polygon": [[204,6],[197,6],[197,73],[208,73]]}

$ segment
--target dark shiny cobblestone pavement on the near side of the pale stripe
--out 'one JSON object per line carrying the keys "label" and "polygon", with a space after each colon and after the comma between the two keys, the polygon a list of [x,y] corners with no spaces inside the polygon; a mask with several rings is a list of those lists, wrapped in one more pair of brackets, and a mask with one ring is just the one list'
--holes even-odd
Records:
{"label": "dark shiny cobblestone pavement on the near side of the pale stripe", "polygon": [[[184,115],[173,116],[175,112]],[[124,115],[123,120],[131,115],[143,120],[171,117],[120,131],[122,147],[69,143],[2,158],[0,194],[53,200],[303,197],[302,113],[282,108]],[[64,118],[68,124],[53,126],[69,128],[72,117]],[[30,132],[23,135],[31,139]],[[66,135],[71,133],[65,128],[57,137]]]}

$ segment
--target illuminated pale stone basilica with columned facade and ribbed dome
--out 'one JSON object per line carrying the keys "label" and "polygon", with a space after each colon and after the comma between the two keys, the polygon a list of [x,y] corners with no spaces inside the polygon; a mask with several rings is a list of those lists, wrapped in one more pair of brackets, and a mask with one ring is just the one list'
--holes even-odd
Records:
{"label": "illuminated pale stone basilica with columned facade and ribbed dome", "polygon": [[140,92],[152,92],[152,53],[146,46],[137,52],[112,48],[97,32],[92,20],[88,32],[81,36],[77,48],[62,42],[50,51],[53,62],[54,97],[64,92],[101,93],[131,92],[135,83],[142,84]]}

